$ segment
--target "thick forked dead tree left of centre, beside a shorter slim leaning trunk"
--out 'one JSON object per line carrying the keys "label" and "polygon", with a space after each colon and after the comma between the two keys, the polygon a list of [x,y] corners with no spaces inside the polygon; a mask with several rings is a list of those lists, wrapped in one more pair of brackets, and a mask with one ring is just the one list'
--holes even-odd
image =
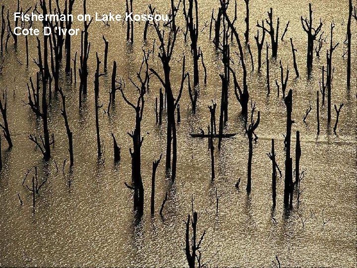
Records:
{"label": "thick forked dead tree left of centre, beside a shorter slim leaning trunk", "polygon": [[[131,179],[132,187],[129,187],[134,191],[134,210],[136,210],[137,215],[140,217],[144,212],[144,187],[141,178],[141,146],[144,140],[144,137],[141,136],[141,121],[143,118],[144,112],[144,96],[148,90],[148,80],[149,80],[149,71],[148,71],[148,59],[150,56],[150,51],[145,52],[143,49],[143,60],[141,62],[141,67],[139,72],[136,73],[137,79],[139,80],[139,85],[137,85],[131,78],[129,78],[131,84],[139,92],[139,96],[136,101],[136,105],[130,102],[124,95],[123,88],[120,87],[121,96],[124,101],[134,109],[135,111],[135,127],[134,131],[127,133],[133,141],[133,149],[129,149],[131,156]],[[144,69],[143,69],[144,68]],[[144,76],[143,73],[144,72]]]}

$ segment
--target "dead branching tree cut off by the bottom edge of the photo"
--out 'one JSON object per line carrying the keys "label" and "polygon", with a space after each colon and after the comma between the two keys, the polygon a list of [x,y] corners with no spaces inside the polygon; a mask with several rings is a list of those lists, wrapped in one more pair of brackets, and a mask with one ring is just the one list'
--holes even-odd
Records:
{"label": "dead branching tree cut off by the bottom edge of the photo", "polygon": [[[204,230],[201,238],[197,241],[197,212],[193,211],[193,201],[192,201],[192,220],[190,219],[190,214],[187,215],[186,223],[186,235],[185,235],[185,254],[189,268],[196,267],[196,260],[198,262],[198,267],[201,267],[201,243],[206,234]],[[192,235],[190,236],[190,225],[192,229]]]}

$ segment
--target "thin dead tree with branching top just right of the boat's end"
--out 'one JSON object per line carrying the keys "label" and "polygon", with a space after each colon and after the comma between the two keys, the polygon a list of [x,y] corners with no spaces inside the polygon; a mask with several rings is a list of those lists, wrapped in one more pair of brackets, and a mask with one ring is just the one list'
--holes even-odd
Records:
{"label": "thin dead tree with branching top just right of the boat's end", "polygon": [[250,116],[250,124],[245,124],[245,134],[247,134],[248,142],[249,142],[249,152],[248,152],[248,178],[247,178],[247,187],[246,191],[249,194],[251,191],[251,162],[253,158],[253,135],[255,136],[254,140],[258,137],[254,133],[255,130],[258,128],[260,122],[260,111],[258,111],[257,120],[254,121],[254,111],[255,111],[255,102],[251,104],[251,116]]}

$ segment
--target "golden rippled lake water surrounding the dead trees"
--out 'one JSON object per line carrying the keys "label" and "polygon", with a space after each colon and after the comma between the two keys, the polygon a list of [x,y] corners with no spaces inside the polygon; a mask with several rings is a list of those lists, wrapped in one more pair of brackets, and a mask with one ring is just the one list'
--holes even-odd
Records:
{"label": "golden rippled lake water surrounding the dead trees", "polygon": [[[75,11],[81,12],[79,0]],[[15,8],[15,0],[1,1]],[[26,4],[33,4],[28,1]],[[134,1],[134,11],[145,12],[147,1]],[[154,1],[160,13],[168,12],[169,1]],[[23,6],[26,4],[21,1]],[[22,100],[27,99],[26,83],[33,76],[36,67],[29,69],[18,63],[25,62],[24,38],[19,39],[17,51],[11,49],[4,54],[5,66],[0,75],[0,87],[8,86],[8,119],[14,147],[6,150],[2,140],[3,170],[0,173],[0,266],[186,266],[184,255],[184,222],[190,212],[191,195],[198,212],[198,231],[206,230],[202,247],[202,262],[218,267],[270,267],[274,266],[275,255],[282,266],[327,266],[356,267],[356,22],[353,22],[352,87],[346,88],[347,60],[342,58],[343,42],[348,18],[348,1],[313,1],[315,21],[321,17],[323,31],[329,33],[329,24],[336,24],[334,42],[340,45],[333,56],[335,74],[333,80],[332,103],[344,102],[337,135],[326,126],[326,108],[320,110],[321,132],[316,135],[315,94],[321,79],[320,66],[325,64],[327,43],[321,50],[321,59],[314,59],[313,76],[306,78],[306,35],[300,24],[300,15],[308,12],[308,1],[250,1],[250,43],[256,62],[255,21],[267,17],[266,11],[273,7],[274,17],[281,21],[281,33],[290,20],[285,41],[280,42],[278,59],[283,59],[284,68],[289,65],[288,88],[293,88],[294,107],[293,133],[300,131],[300,168],[305,170],[301,183],[304,189],[300,202],[294,199],[291,212],[283,210],[284,178],[277,183],[277,207],[272,210],[271,162],[266,153],[270,151],[271,138],[276,139],[278,164],[284,165],[283,134],[286,132],[286,109],[281,98],[276,95],[274,79],[280,79],[279,62],[271,63],[272,92],[266,96],[265,60],[262,75],[256,70],[248,72],[249,93],[261,112],[261,123],[256,131],[259,136],[254,144],[252,164],[252,192],[245,192],[248,142],[239,117],[240,107],[231,88],[229,92],[229,122],[226,132],[237,132],[234,139],[223,141],[220,152],[215,152],[216,180],[211,182],[210,154],[207,140],[192,139],[188,133],[198,132],[209,123],[208,105],[212,98],[220,100],[221,82],[218,74],[222,63],[217,57],[213,44],[209,41],[209,24],[212,8],[218,1],[199,0],[200,34],[199,45],[204,53],[208,70],[207,85],[201,86],[196,115],[190,112],[190,101],[185,89],[181,98],[181,124],[178,127],[178,174],[174,184],[165,176],[165,159],[157,172],[156,214],[150,216],[150,187],[152,161],[165,153],[166,124],[155,125],[154,104],[158,97],[159,83],[151,79],[150,92],[146,96],[142,134],[142,177],[145,188],[144,216],[135,222],[132,212],[132,197],[123,182],[130,181],[131,163],[128,148],[132,146],[126,132],[134,124],[133,111],[118,94],[116,107],[108,117],[100,113],[100,132],[105,144],[105,161],[97,161],[94,120],[94,61],[95,52],[104,54],[102,34],[109,43],[109,70],[112,62],[118,63],[118,74],[135,75],[141,63],[141,33],[143,23],[135,24],[135,43],[132,48],[125,42],[126,28],[121,23],[111,23],[106,27],[102,22],[93,22],[89,29],[92,44],[90,53],[90,74],[88,78],[88,98],[81,111],[78,110],[78,86],[61,82],[67,96],[69,125],[74,138],[74,173],[69,175],[68,163],[61,171],[63,160],[68,158],[67,136],[60,114],[61,101],[56,97],[50,106],[50,132],[55,134],[56,144],[52,149],[49,163],[42,161],[41,152],[28,139],[27,134],[41,133],[41,122]],[[238,1],[238,28],[244,31],[245,7]],[[87,0],[87,12],[125,12],[124,1]],[[183,26],[179,11],[179,25]],[[75,27],[81,25],[75,23]],[[74,26],[73,26],[74,27]],[[202,30],[202,31],[201,31]],[[152,47],[155,33],[149,31],[147,47]],[[243,35],[241,34],[241,37]],[[297,48],[297,64],[300,78],[294,80],[291,46],[292,37]],[[266,40],[268,38],[266,37]],[[328,42],[327,38],[327,42]],[[35,58],[35,39],[30,38],[30,58]],[[72,51],[80,52],[79,39],[72,39]],[[238,50],[236,45],[232,51]],[[172,80],[179,88],[182,53],[189,55],[189,44],[184,44],[179,34],[172,65]],[[265,50],[262,56],[265,59]],[[187,56],[187,67],[191,69]],[[236,56],[235,56],[236,58]],[[248,69],[251,67],[246,52]],[[77,66],[78,66],[77,62]],[[150,65],[161,70],[157,60]],[[203,83],[202,83],[203,84]],[[127,83],[129,85],[129,83]],[[110,74],[101,78],[100,102],[108,104]],[[134,90],[126,88],[128,96],[134,98]],[[132,93],[129,93],[132,92]],[[308,103],[312,111],[306,124],[302,122]],[[218,110],[218,109],[217,109]],[[335,113],[332,109],[332,124]],[[116,134],[121,146],[121,162],[113,161],[111,132]],[[295,141],[292,141],[295,148]],[[293,157],[294,150],[292,149]],[[55,160],[58,163],[57,172]],[[36,201],[36,213],[32,212],[32,196],[22,186],[26,169],[39,167],[40,178],[49,172],[48,182],[40,191]],[[284,173],[283,173],[284,174]],[[235,183],[241,178],[240,190]],[[68,187],[68,180],[71,186]],[[219,213],[216,214],[215,191],[222,194]],[[158,211],[165,193],[169,199],[160,217]],[[24,204],[20,206],[17,194]],[[324,224],[324,222],[326,222]]]}

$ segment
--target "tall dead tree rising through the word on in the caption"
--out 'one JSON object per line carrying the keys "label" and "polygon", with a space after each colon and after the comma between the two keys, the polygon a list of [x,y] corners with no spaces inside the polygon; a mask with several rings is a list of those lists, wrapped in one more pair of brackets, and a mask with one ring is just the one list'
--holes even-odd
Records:
{"label": "tall dead tree rising through the word on in the caption", "polygon": [[[86,0],[83,0],[83,14],[86,14]],[[93,19],[93,18],[92,18]],[[90,42],[88,42],[88,28],[92,23],[92,19],[84,21],[84,30],[81,32],[81,55],[79,71],[79,108],[82,107],[82,95],[87,96],[87,81],[88,81],[88,58],[90,51]]]}

